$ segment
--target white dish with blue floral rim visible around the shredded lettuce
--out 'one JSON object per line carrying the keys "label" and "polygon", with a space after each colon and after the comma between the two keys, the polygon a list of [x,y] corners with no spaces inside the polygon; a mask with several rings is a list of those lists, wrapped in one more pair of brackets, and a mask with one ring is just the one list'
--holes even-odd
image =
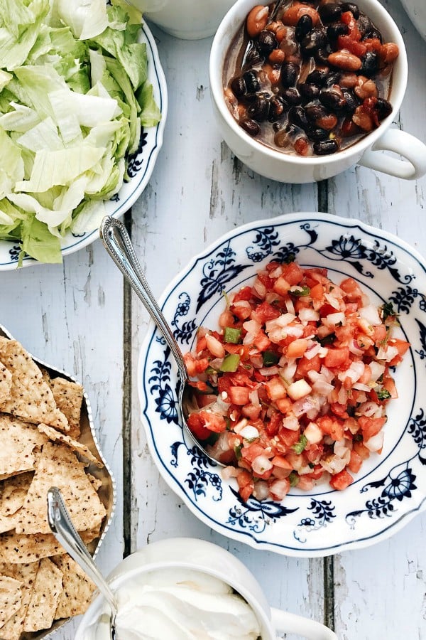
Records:
{"label": "white dish with blue floral rim visible around the shredded lettuce", "polygon": [[[129,179],[124,181],[119,193],[116,193],[111,200],[104,203],[105,215],[113,215],[114,218],[124,215],[146,188],[153,173],[158,152],[163,145],[165,120],[168,111],[168,92],[165,75],[160,63],[155,39],[145,23],[142,24],[140,41],[146,43],[148,82],[153,85],[153,96],[160,110],[161,119],[155,127],[142,127],[138,149],[127,158]],[[98,228],[80,234],[67,233],[61,240],[62,256],[87,247],[97,238],[99,238]],[[16,269],[20,252],[21,248],[18,242],[0,240],[0,271]],[[27,256],[23,258],[22,266],[28,267],[28,265],[40,264],[42,263]]]}

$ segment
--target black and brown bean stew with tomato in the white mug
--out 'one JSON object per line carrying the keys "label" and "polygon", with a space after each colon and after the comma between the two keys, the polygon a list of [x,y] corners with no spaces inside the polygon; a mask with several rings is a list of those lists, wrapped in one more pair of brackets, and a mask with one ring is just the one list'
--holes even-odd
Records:
{"label": "black and brown bean stew with tomato in the white mug", "polygon": [[285,1],[251,9],[226,55],[225,100],[251,137],[324,156],[391,114],[395,43],[353,2]]}

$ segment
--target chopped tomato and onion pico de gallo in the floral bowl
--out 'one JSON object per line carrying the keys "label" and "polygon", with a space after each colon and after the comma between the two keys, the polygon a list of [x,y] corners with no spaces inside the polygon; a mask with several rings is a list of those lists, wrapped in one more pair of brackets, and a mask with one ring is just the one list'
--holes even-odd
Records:
{"label": "chopped tomato and onion pico de gallo in the floral bowl", "polygon": [[226,296],[219,329],[201,327],[185,354],[198,405],[187,423],[241,498],[280,501],[320,479],[345,489],[381,452],[391,368],[410,346],[397,325],[354,279],[295,261]]}

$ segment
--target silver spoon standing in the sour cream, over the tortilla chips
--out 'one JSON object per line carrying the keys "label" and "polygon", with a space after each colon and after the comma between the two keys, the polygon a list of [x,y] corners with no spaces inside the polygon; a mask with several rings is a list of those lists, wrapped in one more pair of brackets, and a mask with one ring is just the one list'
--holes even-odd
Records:
{"label": "silver spoon standing in the sour cream, over the tortilla chips", "polygon": [[70,554],[72,560],[75,560],[77,565],[80,565],[84,573],[93,580],[99,592],[107,600],[111,609],[111,617],[109,619],[110,639],[116,640],[117,604],[115,596],[102,573],[99,572],[98,567],[94,564],[86,545],[84,545],[75,526],[72,524],[71,516],[65,506],[62,494],[55,486],[50,487],[48,490],[48,523],[58,543]]}

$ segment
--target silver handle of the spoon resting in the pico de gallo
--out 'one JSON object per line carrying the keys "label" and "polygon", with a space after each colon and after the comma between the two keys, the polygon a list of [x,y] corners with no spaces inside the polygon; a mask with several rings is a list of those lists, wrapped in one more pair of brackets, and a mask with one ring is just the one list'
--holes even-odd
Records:
{"label": "silver handle of the spoon resting in the pico de gallo", "polygon": [[114,260],[121,273],[129,281],[131,287],[133,287],[133,291],[138,298],[141,299],[141,302],[143,302],[148,314],[150,314],[155,324],[163,333],[165,341],[168,343],[170,351],[178,363],[180,378],[182,381],[186,380],[187,368],[182,353],[180,352],[178,343],[175,341],[175,336],[173,336],[168,321],[163,316],[163,312],[160,306],[158,306],[158,302],[155,300],[148,282],[146,282],[126,227],[120,220],[107,215],[102,220],[99,234],[112,260]]}

